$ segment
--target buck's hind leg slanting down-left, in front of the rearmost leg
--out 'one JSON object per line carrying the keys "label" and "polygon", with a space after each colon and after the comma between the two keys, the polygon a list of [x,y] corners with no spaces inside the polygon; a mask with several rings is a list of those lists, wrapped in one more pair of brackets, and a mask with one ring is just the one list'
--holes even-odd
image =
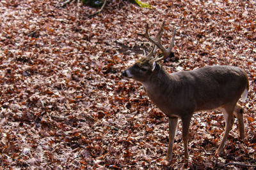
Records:
{"label": "buck's hind leg slanting down-left, in front of the rearmost leg", "polygon": [[230,132],[230,130],[232,129],[232,126],[234,124],[234,105],[233,104],[228,104],[227,106],[224,106],[224,118],[225,118],[225,132],[224,132],[224,136],[221,140],[220,146],[218,147],[218,150],[216,151],[218,153],[218,155],[221,155],[221,153],[223,153],[223,149],[225,146],[225,141],[228,138],[228,133]]}

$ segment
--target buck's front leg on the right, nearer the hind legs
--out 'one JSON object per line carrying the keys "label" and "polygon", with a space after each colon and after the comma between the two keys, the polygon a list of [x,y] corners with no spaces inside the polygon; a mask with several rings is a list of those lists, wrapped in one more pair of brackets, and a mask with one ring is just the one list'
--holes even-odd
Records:
{"label": "buck's front leg on the right, nearer the hind legs", "polygon": [[182,118],[182,139],[184,142],[184,151],[185,151],[185,159],[184,162],[188,162],[189,152],[188,152],[188,129],[190,124],[191,117]]}

